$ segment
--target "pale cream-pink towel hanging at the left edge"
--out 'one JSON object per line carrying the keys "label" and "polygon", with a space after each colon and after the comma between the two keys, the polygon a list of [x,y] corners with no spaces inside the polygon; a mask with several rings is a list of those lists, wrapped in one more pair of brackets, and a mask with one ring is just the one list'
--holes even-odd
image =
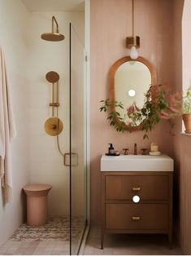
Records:
{"label": "pale cream-pink towel hanging at the left edge", "polygon": [[0,178],[4,203],[11,201],[11,139],[16,135],[5,59],[0,46]]}

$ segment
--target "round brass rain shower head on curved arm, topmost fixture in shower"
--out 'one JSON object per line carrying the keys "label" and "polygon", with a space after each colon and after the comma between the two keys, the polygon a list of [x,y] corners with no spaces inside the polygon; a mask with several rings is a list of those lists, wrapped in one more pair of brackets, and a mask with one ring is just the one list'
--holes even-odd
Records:
{"label": "round brass rain shower head on curved arm, topmost fixture in shower", "polygon": [[[54,31],[54,23],[56,24],[56,32]],[[52,32],[51,33],[42,33],[41,39],[50,42],[59,42],[64,39],[64,35],[59,33],[59,24],[54,16],[52,16]]]}

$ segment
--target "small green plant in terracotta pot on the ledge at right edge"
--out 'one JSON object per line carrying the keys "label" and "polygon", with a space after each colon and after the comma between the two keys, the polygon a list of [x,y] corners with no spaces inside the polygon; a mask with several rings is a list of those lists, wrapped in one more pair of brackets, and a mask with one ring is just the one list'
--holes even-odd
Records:
{"label": "small green plant in terracotta pot on the ledge at right edge", "polygon": [[189,90],[183,97],[182,119],[184,121],[185,133],[191,134],[191,93]]}

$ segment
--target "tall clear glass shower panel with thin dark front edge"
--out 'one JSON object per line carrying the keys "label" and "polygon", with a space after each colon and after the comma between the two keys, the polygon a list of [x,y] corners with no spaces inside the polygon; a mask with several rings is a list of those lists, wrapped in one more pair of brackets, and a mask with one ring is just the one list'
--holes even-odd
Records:
{"label": "tall clear glass shower panel with thin dark front edge", "polygon": [[86,225],[85,48],[70,24],[71,254],[78,254]]}

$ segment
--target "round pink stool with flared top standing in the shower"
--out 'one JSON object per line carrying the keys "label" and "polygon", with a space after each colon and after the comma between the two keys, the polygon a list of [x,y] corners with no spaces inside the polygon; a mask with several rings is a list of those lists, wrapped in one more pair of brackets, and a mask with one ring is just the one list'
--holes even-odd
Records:
{"label": "round pink stool with flared top standing in the shower", "polygon": [[30,184],[24,186],[27,195],[27,222],[30,226],[45,225],[48,221],[48,193],[50,184]]}

